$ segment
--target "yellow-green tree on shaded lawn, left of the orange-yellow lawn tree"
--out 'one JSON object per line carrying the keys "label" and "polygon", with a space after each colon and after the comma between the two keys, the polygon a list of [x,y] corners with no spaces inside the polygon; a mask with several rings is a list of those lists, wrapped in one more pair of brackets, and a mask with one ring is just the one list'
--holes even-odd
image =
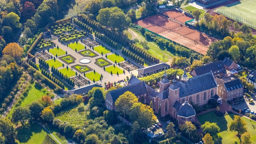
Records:
{"label": "yellow-green tree on shaded lawn, left of the orange-yellow lawn tree", "polygon": [[203,133],[209,133],[212,136],[217,136],[220,128],[218,127],[217,123],[205,121],[204,124],[201,125]]}

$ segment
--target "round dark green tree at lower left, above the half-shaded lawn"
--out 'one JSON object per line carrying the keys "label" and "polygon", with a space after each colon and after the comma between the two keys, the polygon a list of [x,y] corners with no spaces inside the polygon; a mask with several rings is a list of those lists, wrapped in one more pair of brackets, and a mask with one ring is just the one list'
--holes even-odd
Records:
{"label": "round dark green tree at lower left, above the half-shaded lawn", "polygon": [[14,122],[21,123],[24,126],[25,122],[27,122],[30,118],[30,110],[27,107],[17,106],[12,113],[12,120]]}

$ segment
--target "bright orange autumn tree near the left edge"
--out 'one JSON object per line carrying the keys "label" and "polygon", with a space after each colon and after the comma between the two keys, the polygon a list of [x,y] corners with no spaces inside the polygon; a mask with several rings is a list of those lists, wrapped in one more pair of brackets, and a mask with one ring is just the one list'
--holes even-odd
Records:
{"label": "bright orange autumn tree near the left edge", "polygon": [[23,48],[21,48],[17,43],[8,43],[2,50],[3,54],[8,54],[15,58],[15,60],[19,60],[21,54],[23,52]]}

